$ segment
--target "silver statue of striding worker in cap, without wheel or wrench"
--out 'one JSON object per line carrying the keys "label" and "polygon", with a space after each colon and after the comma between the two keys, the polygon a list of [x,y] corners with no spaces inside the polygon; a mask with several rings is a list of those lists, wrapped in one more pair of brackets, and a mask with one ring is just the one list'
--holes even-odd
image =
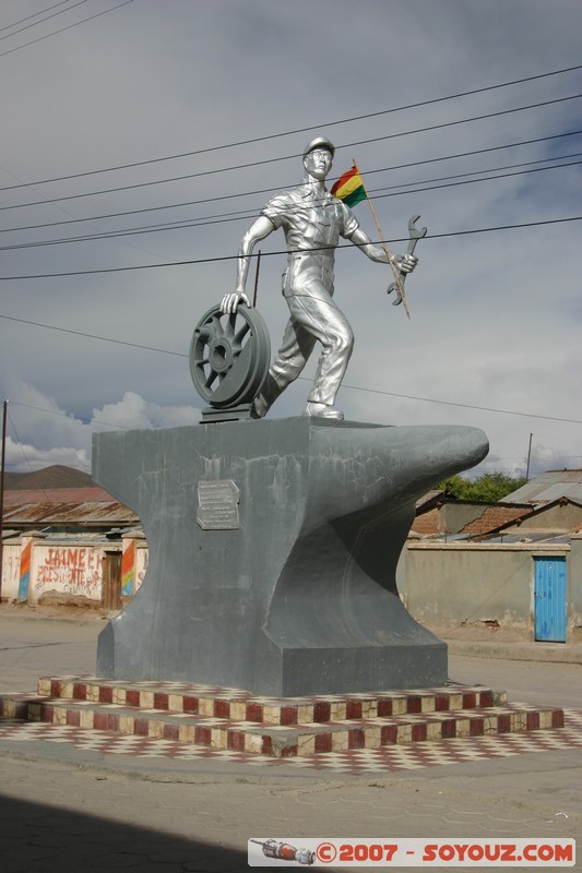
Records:
{"label": "silver statue of striding worker in cap, without wheel or wrench", "polygon": [[[388,263],[384,249],[375,246],[359,228],[352,211],[325,189],[335,147],[317,136],[305,148],[301,184],[282,191],[262,210],[245,234],[238,251],[237,285],[224,296],[223,312],[236,312],[240,302],[250,306],[245,292],[250,255],[259,240],[282,227],[288,248],[283,274],[283,295],[290,318],[277,356],[269,370],[252,415],[262,418],[278,395],[300,374],[316,342],[321,344],[316,379],[304,410],[306,416],[343,419],[334,407],[354,347],[354,334],[333,300],[333,267],[340,237],[351,240],[371,260]],[[417,259],[400,254],[392,259],[399,271],[409,273]]]}

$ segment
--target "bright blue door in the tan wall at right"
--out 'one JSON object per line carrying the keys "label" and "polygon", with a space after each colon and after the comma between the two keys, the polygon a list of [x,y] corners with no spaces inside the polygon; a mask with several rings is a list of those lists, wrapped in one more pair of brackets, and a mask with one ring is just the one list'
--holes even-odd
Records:
{"label": "bright blue door in the tan wall at right", "polygon": [[535,638],[566,643],[566,558],[534,558]]}

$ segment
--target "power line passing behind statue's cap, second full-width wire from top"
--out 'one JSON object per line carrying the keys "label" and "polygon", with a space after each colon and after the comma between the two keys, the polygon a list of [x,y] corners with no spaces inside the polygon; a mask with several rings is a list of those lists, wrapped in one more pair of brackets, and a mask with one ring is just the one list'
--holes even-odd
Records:
{"label": "power line passing behind statue's cap, second full-width wire from top", "polygon": [[[0,57],[2,57],[2,56],[0,55]],[[384,142],[387,140],[394,140],[394,139],[397,139],[400,136],[411,136],[411,135],[416,134],[416,133],[433,132],[436,130],[443,130],[444,128],[451,128],[451,127],[455,127],[455,125],[459,125],[459,124],[468,124],[468,123],[472,123],[474,121],[484,121],[484,120],[487,120],[487,119],[490,119],[490,118],[499,118],[500,116],[512,115],[513,112],[522,112],[522,111],[525,111],[527,109],[539,109],[539,108],[542,108],[544,106],[553,106],[555,104],[566,103],[568,100],[575,100],[575,99],[579,99],[580,97],[582,97],[582,94],[572,94],[572,95],[570,95],[568,97],[558,97],[558,98],[555,98],[553,100],[543,100],[542,103],[528,104],[527,106],[518,106],[518,107],[514,107],[513,109],[500,109],[497,112],[487,112],[486,115],[473,116],[471,118],[458,119],[456,121],[444,121],[444,122],[441,122],[440,124],[430,124],[430,125],[425,127],[425,128],[415,128],[413,130],[400,131],[399,133],[388,133],[388,134],[384,134],[383,136],[373,136],[373,137],[370,137],[368,140],[358,140],[358,141],[353,142],[353,143],[346,143],[346,144],[344,144],[342,146],[337,146],[337,148],[340,148],[340,147],[353,148],[353,147],[358,146],[358,145],[369,145],[370,143]],[[280,156],[280,157],[265,158],[263,160],[248,162],[247,164],[237,164],[237,165],[231,166],[231,167],[221,167],[218,169],[213,169],[213,170],[200,170],[199,172],[190,172],[190,174],[186,174],[183,176],[174,176],[174,177],[171,177],[169,179],[155,179],[155,180],[152,180],[150,182],[136,182],[134,184],[127,184],[127,186],[119,186],[117,188],[102,189],[100,191],[86,191],[86,192],[84,192],[82,194],[68,194],[67,196],[50,198],[50,199],[46,199],[46,200],[32,201],[31,203],[16,203],[16,204],[12,204],[10,206],[1,206],[0,207],[0,212],[5,212],[8,210],[21,210],[21,208],[26,208],[28,206],[39,206],[39,205],[44,205],[45,203],[60,203],[63,200],[79,200],[81,198],[92,198],[92,196],[97,196],[98,194],[115,194],[115,193],[119,193],[120,191],[133,191],[133,190],[140,189],[140,188],[151,188],[153,186],[167,184],[168,182],[179,182],[179,181],[185,181],[186,179],[198,179],[198,178],[201,178],[203,176],[215,176],[216,174],[221,174],[221,172],[230,172],[233,170],[249,169],[251,167],[260,167],[260,166],[264,166],[266,164],[280,163],[282,160],[290,160],[292,158],[296,158],[296,157],[300,157],[300,155],[283,155],[283,156]],[[29,184],[32,184],[32,183],[29,183]],[[28,187],[29,187],[29,184],[28,184]]]}

